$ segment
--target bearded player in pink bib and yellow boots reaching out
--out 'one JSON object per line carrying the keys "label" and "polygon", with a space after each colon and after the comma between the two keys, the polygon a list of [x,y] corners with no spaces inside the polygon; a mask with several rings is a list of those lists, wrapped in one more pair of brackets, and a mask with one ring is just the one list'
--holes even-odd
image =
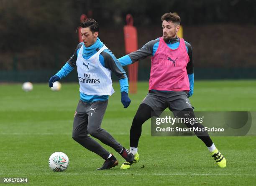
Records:
{"label": "bearded player in pink bib and yellow boots reaching out", "polygon": [[[138,141],[142,124],[151,118],[151,113],[161,113],[166,108],[180,118],[195,118],[189,97],[194,89],[192,47],[177,37],[180,17],[166,13],[161,17],[163,36],[146,43],[141,49],[119,58],[122,66],[132,64],[151,55],[149,92],[141,102],[130,131],[130,151],[134,163],[139,161]],[[200,123],[186,124],[187,127],[204,128]],[[207,131],[195,132],[210,151],[218,166],[224,168],[226,160],[212,142]],[[131,163],[125,161],[121,169],[128,169]]]}

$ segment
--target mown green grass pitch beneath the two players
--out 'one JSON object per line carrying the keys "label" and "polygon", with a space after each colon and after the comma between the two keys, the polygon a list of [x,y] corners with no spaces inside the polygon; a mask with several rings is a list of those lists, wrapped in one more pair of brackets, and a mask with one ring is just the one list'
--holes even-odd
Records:
{"label": "mown green grass pitch beneath the two players", "polygon": [[[196,111],[256,111],[256,81],[196,81],[190,98]],[[120,87],[110,97],[102,128],[129,147],[133,116],[146,96],[148,83],[138,83],[124,109]],[[21,84],[0,85],[0,177],[27,177],[29,185],[255,185],[256,137],[213,137],[227,159],[219,168],[197,137],[151,137],[150,121],[143,124],[139,143],[140,162],[131,169],[119,166],[96,171],[103,160],[72,139],[74,111],[79,101],[77,83],[62,84],[53,92],[47,84],[34,84],[23,92]],[[255,123],[253,123],[255,124]],[[51,153],[69,156],[65,172],[48,166]]]}

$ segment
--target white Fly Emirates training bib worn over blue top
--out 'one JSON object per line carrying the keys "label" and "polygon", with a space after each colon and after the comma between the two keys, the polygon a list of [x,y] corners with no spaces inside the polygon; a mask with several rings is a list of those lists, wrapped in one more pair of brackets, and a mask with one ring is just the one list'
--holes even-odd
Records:
{"label": "white Fly Emirates training bib worn over blue top", "polygon": [[111,70],[102,66],[99,60],[100,53],[107,49],[105,45],[89,59],[83,58],[83,45],[77,56],[77,74],[79,91],[87,95],[109,95],[115,91],[112,87]]}

